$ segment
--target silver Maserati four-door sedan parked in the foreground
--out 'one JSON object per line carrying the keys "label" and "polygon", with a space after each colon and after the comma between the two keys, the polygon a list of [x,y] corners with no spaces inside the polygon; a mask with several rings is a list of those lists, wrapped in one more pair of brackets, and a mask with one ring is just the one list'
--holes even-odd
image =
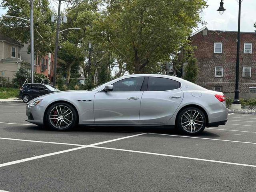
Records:
{"label": "silver Maserati four-door sedan parked in the foreground", "polygon": [[40,96],[26,106],[28,122],[69,130],[79,125],[174,126],[186,134],[224,125],[225,96],[181,78],[136,74],[91,90]]}

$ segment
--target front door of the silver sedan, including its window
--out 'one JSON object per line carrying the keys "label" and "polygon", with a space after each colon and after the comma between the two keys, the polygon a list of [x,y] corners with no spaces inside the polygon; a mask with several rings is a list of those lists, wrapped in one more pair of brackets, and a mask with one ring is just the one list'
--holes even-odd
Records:
{"label": "front door of the silver sedan, including its window", "polygon": [[138,123],[143,81],[144,77],[126,78],[113,83],[111,92],[97,92],[94,96],[95,123]]}

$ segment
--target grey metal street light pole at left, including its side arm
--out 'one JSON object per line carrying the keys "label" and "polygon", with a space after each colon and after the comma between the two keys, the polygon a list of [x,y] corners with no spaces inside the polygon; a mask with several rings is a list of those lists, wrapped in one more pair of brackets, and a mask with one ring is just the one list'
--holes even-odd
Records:
{"label": "grey metal street light pole at left, including its side arm", "polygon": [[12,15],[4,15],[7,18],[18,18],[30,22],[30,64],[31,64],[31,83],[34,83],[34,24],[33,24],[33,1],[31,1],[30,20]]}

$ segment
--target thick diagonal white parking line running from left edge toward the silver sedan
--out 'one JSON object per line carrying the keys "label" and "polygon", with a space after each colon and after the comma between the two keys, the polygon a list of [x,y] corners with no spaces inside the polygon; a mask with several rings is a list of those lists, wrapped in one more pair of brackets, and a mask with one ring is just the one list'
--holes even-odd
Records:
{"label": "thick diagonal white parking line running from left edge toward the silver sedan", "polygon": [[70,151],[75,151],[75,150],[87,148],[87,147],[90,147],[90,146],[96,146],[96,145],[109,143],[109,142],[114,142],[114,141],[118,141],[118,140],[122,140],[122,139],[126,139],[126,138],[136,137],[136,136],[140,136],[140,135],[144,135],[144,134],[147,134],[147,133],[141,133],[141,134],[126,136],[126,137],[121,137],[121,138],[117,138],[117,139],[112,139],[112,140],[107,140],[107,141],[103,141],[103,142],[90,144],[90,145],[84,145],[84,146],[81,146],[81,147],[72,148],[72,149],[68,149],[68,150],[58,151],[58,152],[54,152],[54,153],[48,153],[48,154],[44,154],[44,155],[34,156],[34,157],[25,158],[25,159],[16,160],[16,161],[7,162],[7,163],[2,163],[2,164],[0,164],[0,167],[13,165],[13,164],[17,164],[17,163],[22,163],[22,162],[26,162],[26,161],[30,161],[30,160],[34,160],[34,159],[43,158],[43,157],[48,157],[48,156],[52,156],[52,155],[57,155],[57,154],[61,154],[61,153],[66,153],[66,152],[70,152]]}

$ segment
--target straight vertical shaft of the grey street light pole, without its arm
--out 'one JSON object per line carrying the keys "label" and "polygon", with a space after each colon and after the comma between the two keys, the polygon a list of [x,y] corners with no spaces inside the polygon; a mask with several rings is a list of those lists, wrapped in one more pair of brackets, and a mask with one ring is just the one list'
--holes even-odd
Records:
{"label": "straight vertical shaft of the grey street light pole, without its arm", "polygon": [[30,63],[31,83],[34,83],[34,0],[30,0]]}

